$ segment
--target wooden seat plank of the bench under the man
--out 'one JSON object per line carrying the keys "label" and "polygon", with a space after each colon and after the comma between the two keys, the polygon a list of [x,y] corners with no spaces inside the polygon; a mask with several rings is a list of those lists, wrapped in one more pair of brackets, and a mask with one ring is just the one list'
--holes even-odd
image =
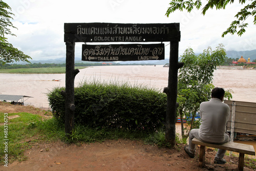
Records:
{"label": "wooden seat plank of the bench under the man", "polygon": [[204,145],[208,147],[226,149],[228,151],[237,152],[237,153],[244,153],[244,154],[253,155],[253,156],[255,155],[253,146],[248,144],[241,144],[236,142],[226,142],[224,144],[211,144],[211,143],[202,142],[197,138],[194,138],[192,140],[192,143],[198,144],[198,145]]}

